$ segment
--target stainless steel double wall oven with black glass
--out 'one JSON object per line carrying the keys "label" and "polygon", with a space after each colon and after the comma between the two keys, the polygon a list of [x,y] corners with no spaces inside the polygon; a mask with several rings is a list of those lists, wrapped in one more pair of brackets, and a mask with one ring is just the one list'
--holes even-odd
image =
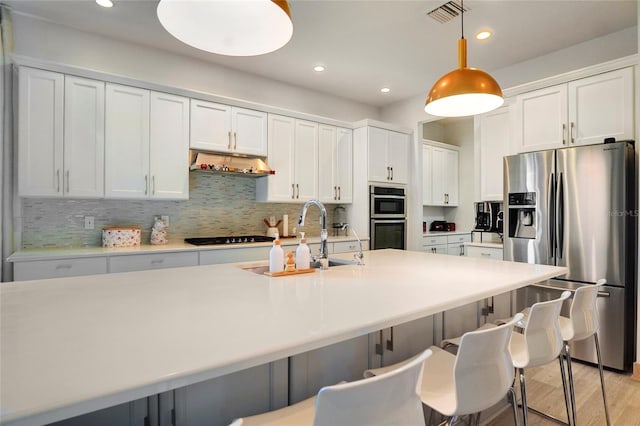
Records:
{"label": "stainless steel double wall oven with black glass", "polygon": [[400,187],[369,187],[371,249],[407,248],[407,197]]}

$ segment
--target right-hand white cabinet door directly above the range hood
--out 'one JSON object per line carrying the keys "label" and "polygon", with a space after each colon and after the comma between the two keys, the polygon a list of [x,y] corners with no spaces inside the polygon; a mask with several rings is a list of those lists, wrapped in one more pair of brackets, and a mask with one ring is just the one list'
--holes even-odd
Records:
{"label": "right-hand white cabinet door directly above the range hood", "polygon": [[267,114],[244,108],[231,109],[233,152],[267,156]]}

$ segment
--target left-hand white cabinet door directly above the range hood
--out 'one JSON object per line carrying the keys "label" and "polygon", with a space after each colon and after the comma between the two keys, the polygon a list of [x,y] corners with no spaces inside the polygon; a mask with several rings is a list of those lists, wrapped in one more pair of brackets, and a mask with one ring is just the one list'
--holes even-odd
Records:
{"label": "left-hand white cabinet door directly above the range hood", "polygon": [[191,99],[191,136],[189,146],[192,149],[231,152],[233,148],[231,107]]}

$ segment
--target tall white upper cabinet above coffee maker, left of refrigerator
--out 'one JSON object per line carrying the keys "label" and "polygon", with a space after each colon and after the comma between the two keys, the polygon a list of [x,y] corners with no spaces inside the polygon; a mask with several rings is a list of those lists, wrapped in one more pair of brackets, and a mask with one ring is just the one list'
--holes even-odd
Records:
{"label": "tall white upper cabinet above coffee maker, left of refrigerator", "polygon": [[502,201],[503,158],[511,155],[513,114],[505,106],[474,118],[476,201]]}

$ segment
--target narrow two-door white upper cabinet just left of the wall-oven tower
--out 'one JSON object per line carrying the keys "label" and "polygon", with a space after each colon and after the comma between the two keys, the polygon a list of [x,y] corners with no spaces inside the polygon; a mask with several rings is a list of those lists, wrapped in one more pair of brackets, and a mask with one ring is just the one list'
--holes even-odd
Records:
{"label": "narrow two-door white upper cabinet just left of the wall-oven tower", "polygon": [[353,131],[318,127],[318,197],[323,203],[351,203]]}

